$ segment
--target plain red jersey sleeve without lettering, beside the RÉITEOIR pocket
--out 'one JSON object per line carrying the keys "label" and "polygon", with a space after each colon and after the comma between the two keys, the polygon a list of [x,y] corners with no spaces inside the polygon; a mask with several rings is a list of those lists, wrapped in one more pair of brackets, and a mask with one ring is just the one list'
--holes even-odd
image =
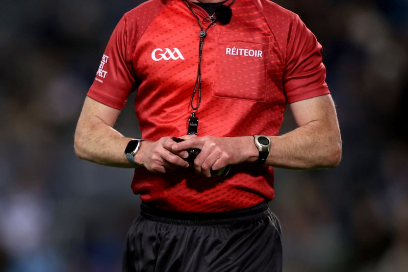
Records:
{"label": "plain red jersey sleeve without lettering, beside the R\u00c9ITEOIR pocket", "polygon": [[290,26],[284,88],[288,103],[329,94],[322,46],[296,16]]}

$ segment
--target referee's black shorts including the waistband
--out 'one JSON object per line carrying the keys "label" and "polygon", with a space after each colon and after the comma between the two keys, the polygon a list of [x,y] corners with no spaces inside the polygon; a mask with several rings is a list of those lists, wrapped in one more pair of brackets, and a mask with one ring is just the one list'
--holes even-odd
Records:
{"label": "referee's black shorts including the waistband", "polygon": [[267,203],[225,213],[175,213],[141,205],[123,272],[281,272],[281,226]]}

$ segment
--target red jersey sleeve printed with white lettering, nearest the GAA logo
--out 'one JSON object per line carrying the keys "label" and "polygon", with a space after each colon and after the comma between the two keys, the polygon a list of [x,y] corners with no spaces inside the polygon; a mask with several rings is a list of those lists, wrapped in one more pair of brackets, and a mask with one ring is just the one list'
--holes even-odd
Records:
{"label": "red jersey sleeve printed with white lettering, nearest the GAA logo", "polygon": [[[123,109],[129,94],[135,90],[132,69],[129,26],[123,16],[116,25],[101,58],[95,79],[88,91],[94,100],[115,109]],[[130,44],[129,44],[130,43]]]}

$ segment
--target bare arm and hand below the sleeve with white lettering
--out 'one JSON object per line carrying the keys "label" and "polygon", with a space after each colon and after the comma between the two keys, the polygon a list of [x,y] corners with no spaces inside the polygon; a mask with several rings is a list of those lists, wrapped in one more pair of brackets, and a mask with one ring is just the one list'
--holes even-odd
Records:
{"label": "bare arm and hand below the sleeve with white lettering", "polygon": [[[119,113],[119,110],[90,97],[85,98],[74,138],[75,154],[79,158],[110,166],[134,167],[124,156],[126,145],[133,138],[125,137],[113,128]],[[170,137],[156,142],[144,141],[135,161],[154,172],[188,167],[186,161],[169,151],[172,144]],[[186,152],[182,154],[187,155]]]}

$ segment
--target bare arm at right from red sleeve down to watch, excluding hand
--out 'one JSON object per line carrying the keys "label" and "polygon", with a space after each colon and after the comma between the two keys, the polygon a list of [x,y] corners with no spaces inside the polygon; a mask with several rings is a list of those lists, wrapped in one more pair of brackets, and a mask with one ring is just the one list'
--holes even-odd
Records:
{"label": "bare arm at right from red sleeve down to watch, excluding hand", "polygon": [[323,95],[290,105],[298,128],[269,137],[267,164],[285,168],[334,167],[341,160],[341,136],[333,99]]}

